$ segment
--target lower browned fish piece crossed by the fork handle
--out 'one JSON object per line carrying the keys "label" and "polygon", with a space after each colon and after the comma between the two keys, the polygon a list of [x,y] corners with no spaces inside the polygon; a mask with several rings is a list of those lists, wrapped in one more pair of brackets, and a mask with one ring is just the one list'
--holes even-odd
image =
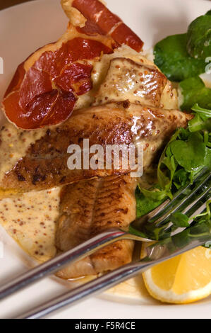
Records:
{"label": "lower browned fish piece crossed by the fork handle", "polygon": [[[72,249],[108,228],[127,227],[135,219],[137,184],[130,176],[111,176],[66,186],[61,193],[61,215],[57,221],[58,252]],[[132,253],[132,241],[116,242],[57,275],[77,278],[116,269],[130,262]]]}

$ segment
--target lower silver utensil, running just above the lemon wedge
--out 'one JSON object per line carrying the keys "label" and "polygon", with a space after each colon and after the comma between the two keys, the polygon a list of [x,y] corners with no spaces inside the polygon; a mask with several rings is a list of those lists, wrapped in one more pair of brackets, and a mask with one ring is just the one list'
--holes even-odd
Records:
{"label": "lower silver utensil, running just above the lemon wedge", "polygon": [[[189,230],[191,230],[191,228]],[[194,230],[194,227],[192,230]],[[83,286],[79,286],[68,293],[35,307],[33,310],[19,316],[17,319],[37,319],[46,316],[55,310],[59,310],[61,307],[66,305],[75,305],[90,296],[102,293],[104,290],[116,286],[117,284],[126,281],[128,278],[135,276],[137,273],[143,273],[143,271],[150,269],[152,266],[205,244],[205,242],[210,241],[211,232],[206,235],[201,234],[198,235],[198,237],[192,237],[190,242],[187,242],[187,244],[181,244],[179,247],[174,244],[176,237],[177,235],[170,237],[169,242],[167,242],[166,239],[165,242],[157,242],[152,244],[150,247],[147,247],[148,255],[142,260],[121,266],[119,269],[111,271],[93,281],[85,283]],[[174,251],[172,251],[173,248]]]}

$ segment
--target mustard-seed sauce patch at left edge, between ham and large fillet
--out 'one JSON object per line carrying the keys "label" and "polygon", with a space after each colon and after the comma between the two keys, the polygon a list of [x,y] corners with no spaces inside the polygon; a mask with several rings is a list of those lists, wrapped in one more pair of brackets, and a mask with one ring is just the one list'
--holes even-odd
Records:
{"label": "mustard-seed sauce patch at left edge, between ham and large fillet", "polygon": [[47,131],[47,128],[38,130],[20,130],[11,123],[5,123],[1,128],[1,159],[0,181],[4,174],[13,169],[19,159],[27,152],[30,145],[39,140]]}

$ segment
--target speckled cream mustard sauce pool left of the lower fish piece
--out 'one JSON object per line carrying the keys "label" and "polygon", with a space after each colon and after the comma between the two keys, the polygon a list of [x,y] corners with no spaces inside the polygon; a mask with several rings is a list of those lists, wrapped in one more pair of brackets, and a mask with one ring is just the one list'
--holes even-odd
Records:
{"label": "speckled cream mustard sauce pool left of the lower fish piece", "polygon": [[56,254],[60,191],[57,187],[0,201],[1,225],[25,252],[38,261],[46,261]]}

